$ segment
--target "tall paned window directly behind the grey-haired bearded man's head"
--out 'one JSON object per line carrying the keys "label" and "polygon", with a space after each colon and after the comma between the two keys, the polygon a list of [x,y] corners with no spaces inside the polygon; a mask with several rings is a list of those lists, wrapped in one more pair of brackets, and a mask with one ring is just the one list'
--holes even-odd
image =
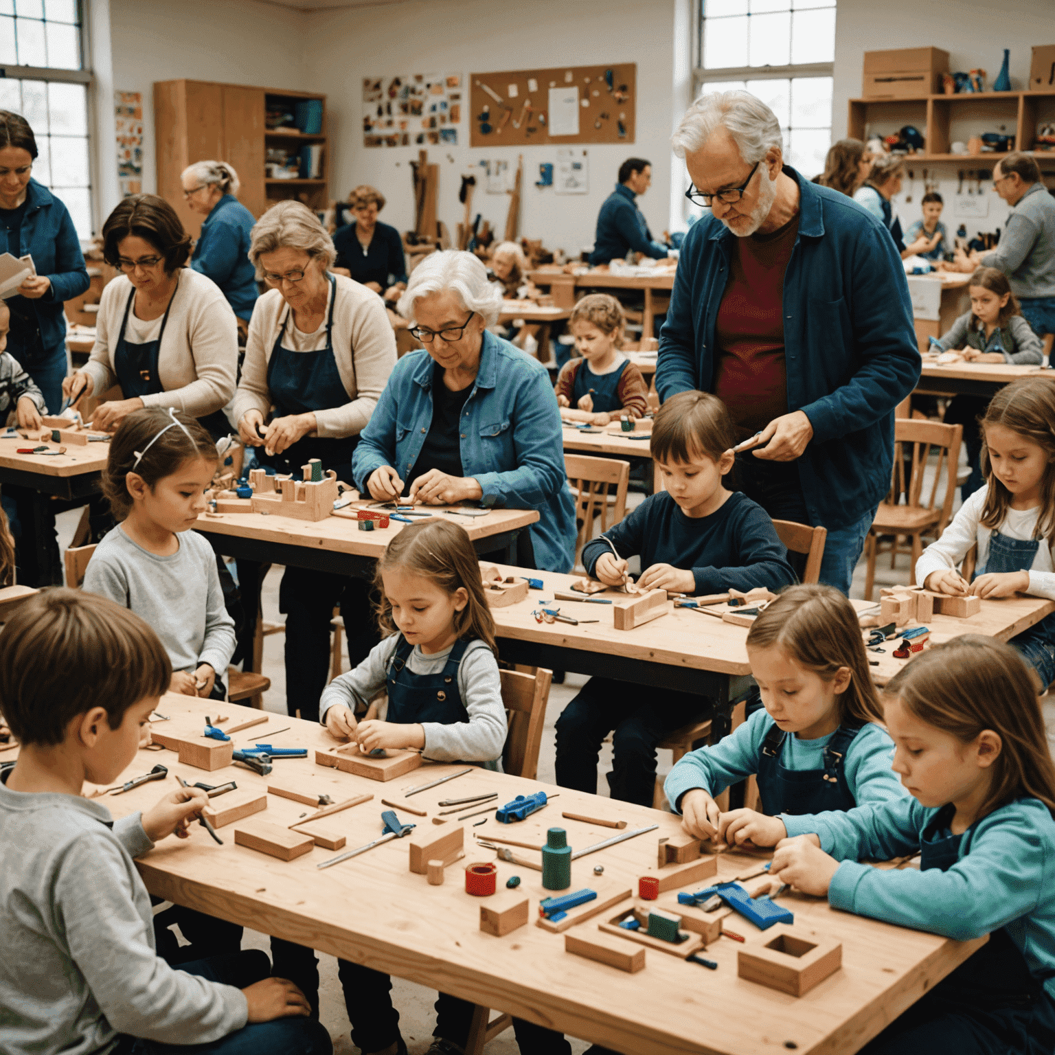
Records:
{"label": "tall paned window directly behind the grey-haired bearded man's head", "polygon": [[746,89],[776,114],[804,176],[831,146],[836,0],[701,0],[696,94]]}

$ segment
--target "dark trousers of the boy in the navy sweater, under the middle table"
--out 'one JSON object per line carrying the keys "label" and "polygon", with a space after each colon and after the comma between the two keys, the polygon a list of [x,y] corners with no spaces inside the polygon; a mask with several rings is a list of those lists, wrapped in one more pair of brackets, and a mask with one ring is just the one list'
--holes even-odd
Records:
{"label": "dark trousers of the boy in the navy sweater, under the middle table", "polygon": [[628,682],[592,677],[557,718],[557,783],[596,794],[601,741],[614,729],[615,759],[608,774],[612,798],[651,806],[656,744],[712,710],[704,696],[649,691]]}

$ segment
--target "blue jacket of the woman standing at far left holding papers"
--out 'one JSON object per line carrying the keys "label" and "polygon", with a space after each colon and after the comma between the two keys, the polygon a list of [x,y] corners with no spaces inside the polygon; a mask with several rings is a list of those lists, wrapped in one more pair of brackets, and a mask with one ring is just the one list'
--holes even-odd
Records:
{"label": "blue jacket of the woman standing at far left holding papers", "polygon": [[[32,253],[37,274],[47,275],[51,287],[36,301],[24,296],[8,299],[12,326],[7,351],[23,366],[36,366],[53,354],[65,353],[62,303],[83,293],[91,280],[66,207],[36,179],[31,179],[26,187],[20,243],[17,255]],[[38,328],[43,356],[36,340]]]}

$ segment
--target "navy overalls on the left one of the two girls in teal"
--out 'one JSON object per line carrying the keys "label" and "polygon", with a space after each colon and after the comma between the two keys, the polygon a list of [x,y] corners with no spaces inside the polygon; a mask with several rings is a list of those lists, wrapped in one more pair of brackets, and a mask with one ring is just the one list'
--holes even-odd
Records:
{"label": "navy overalls on the left one of the two girls in teal", "polygon": [[759,793],[767,817],[778,813],[823,813],[857,805],[846,783],[846,752],[861,726],[840,726],[824,748],[823,769],[788,769],[781,765],[787,733],[773,726],[762,742],[759,755]]}

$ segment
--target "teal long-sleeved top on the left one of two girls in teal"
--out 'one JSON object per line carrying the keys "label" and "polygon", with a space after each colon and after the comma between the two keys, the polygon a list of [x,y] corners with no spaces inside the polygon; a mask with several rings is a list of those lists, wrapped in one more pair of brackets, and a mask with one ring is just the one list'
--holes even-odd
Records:
{"label": "teal long-sleeved top on the left one of two girls in teal", "polygon": [[[767,711],[755,711],[717,744],[702,747],[682,759],[664,784],[671,809],[679,813],[682,795],[692,788],[703,788],[714,798],[730,784],[756,773],[762,742],[774,724]],[[785,736],[781,749],[781,765],[785,769],[799,771],[823,769],[824,749],[832,736],[833,731],[814,740]],[[871,722],[850,742],[843,771],[850,793],[859,806],[890,802],[908,794],[890,768],[893,750],[894,741],[884,729]],[[785,814],[780,816],[782,820],[785,819]]]}

